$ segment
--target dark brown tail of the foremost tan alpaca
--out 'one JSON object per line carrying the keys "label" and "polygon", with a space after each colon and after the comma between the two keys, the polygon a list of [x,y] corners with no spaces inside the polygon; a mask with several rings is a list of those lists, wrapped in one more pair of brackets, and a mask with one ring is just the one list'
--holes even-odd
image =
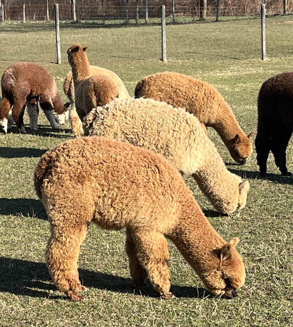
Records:
{"label": "dark brown tail of the foremost tan alpaca", "polygon": [[55,156],[55,152],[52,152],[50,150],[47,151],[41,156],[38,165],[35,169],[34,186],[37,196],[40,200],[42,199],[43,181],[51,172],[52,162],[54,161]]}

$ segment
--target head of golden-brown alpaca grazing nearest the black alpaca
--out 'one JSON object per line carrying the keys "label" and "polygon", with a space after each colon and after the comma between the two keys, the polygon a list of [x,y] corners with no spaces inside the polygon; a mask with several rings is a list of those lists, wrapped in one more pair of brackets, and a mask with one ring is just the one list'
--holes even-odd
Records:
{"label": "head of golden-brown alpaca grazing nearest the black alpaca", "polygon": [[239,164],[245,164],[246,160],[252,154],[251,137],[252,132],[244,136],[236,134],[235,137],[231,140],[229,151],[232,158],[236,162],[239,162]]}

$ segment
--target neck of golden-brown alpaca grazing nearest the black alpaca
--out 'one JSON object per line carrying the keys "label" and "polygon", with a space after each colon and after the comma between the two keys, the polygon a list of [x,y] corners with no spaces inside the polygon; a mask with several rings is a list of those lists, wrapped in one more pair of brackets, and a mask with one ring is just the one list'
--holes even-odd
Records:
{"label": "neck of golden-brown alpaca grazing nearest the black alpaca", "polygon": [[222,138],[224,144],[229,149],[231,140],[238,134],[240,137],[246,135],[239,126],[236,118],[226,102],[218,106],[219,114],[215,122],[211,125]]}

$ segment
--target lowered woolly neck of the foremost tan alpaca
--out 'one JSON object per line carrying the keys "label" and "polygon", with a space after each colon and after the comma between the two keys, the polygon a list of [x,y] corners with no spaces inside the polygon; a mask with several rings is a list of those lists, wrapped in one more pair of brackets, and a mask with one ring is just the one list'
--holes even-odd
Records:
{"label": "lowered woolly neck of the foremost tan alpaca", "polygon": [[217,268],[219,259],[215,250],[227,243],[210,225],[192,195],[184,201],[169,238],[200,277]]}

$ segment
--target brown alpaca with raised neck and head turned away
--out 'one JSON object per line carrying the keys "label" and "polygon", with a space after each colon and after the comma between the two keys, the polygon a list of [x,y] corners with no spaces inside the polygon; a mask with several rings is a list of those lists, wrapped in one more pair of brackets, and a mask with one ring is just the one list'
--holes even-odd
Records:
{"label": "brown alpaca with raised neck and head turned away", "polygon": [[87,47],[74,44],[67,50],[74,82],[74,101],[79,119],[97,106],[103,106],[118,97],[118,90],[109,76],[90,74]]}

